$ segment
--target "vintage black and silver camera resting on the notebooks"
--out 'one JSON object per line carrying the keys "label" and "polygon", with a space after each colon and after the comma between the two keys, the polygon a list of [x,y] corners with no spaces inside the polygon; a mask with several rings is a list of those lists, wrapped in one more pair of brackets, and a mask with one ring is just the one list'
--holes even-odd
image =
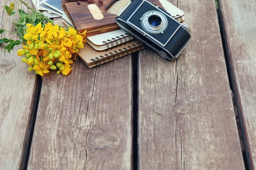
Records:
{"label": "vintage black and silver camera resting on the notebooks", "polygon": [[190,41],[190,28],[146,0],[131,0],[116,17],[120,28],[172,61]]}

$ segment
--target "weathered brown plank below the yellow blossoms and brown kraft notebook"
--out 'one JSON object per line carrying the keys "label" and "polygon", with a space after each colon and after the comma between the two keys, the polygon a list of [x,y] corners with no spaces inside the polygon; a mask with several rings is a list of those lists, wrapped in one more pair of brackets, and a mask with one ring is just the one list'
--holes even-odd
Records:
{"label": "weathered brown plank below the yellow blossoms and brown kraft notebook", "polygon": [[131,56],[43,80],[28,169],[131,169]]}

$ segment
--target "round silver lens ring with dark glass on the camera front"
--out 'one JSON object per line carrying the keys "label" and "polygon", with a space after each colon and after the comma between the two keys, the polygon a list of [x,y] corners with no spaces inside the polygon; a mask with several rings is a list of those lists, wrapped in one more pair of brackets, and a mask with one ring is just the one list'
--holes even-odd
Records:
{"label": "round silver lens ring with dark glass on the camera front", "polygon": [[140,20],[143,29],[151,34],[163,33],[168,26],[166,16],[159,11],[148,11],[143,14]]}

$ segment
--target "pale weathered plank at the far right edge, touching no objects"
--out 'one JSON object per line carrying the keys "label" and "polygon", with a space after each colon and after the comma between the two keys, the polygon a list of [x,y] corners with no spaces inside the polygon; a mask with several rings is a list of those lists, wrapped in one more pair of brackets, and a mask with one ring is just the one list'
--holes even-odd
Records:
{"label": "pale weathered plank at the far right edge, touching no objects", "polygon": [[221,0],[235,93],[252,168],[256,168],[256,1]]}

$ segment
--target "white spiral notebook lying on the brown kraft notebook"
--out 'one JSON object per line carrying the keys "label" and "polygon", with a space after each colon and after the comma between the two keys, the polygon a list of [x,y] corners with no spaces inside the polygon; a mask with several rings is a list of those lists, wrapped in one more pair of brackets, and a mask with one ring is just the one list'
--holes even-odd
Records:
{"label": "white spiral notebook lying on the brown kraft notebook", "polygon": [[117,47],[120,44],[134,39],[127,32],[119,29],[116,31],[107,32],[104,34],[94,35],[86,38],[86,42],[97,51],[108,50]]}

